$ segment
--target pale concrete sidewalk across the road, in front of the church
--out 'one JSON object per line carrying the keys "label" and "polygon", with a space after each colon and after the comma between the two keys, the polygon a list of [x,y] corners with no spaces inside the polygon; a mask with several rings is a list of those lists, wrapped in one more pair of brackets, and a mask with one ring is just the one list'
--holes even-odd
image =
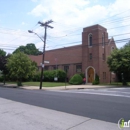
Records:
{"label": "pale concrete sidewalk across the road, in front of the church", "polygon": [[[17,87],[16,84],[0,84],[2,87],[8,88],[22,88],[22,89],[31,89],[31,90],[38,90],[39,86],[22,86]],[[42,90],[68,90],[68,89],[99,89],[99,88],[113,88],[115,86],[110,85],[92,85],[92,84],[85,84],[85,85],[69,85],[69,86],[58,86],[58,87],[42,87]]]}

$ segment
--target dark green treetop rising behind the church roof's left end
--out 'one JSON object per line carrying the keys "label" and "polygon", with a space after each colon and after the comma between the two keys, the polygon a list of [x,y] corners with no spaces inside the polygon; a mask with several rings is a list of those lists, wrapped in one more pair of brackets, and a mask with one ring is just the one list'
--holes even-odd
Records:
{"label": "dark green treetop rising behind the church roof's left end", "polygon": [[13,54],[17,53],[17,52],[24,52],[25,54],[28,54],[28,55],[40,55],[40,54],[42,54],[42,52],[39,51],[33,43],[29,43],[26,46],[18,47],[13,52]]}

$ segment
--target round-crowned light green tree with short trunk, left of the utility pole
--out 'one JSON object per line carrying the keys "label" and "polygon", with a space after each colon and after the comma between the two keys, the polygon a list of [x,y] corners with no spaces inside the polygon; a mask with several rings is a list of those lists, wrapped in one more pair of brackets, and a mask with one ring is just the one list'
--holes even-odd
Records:
{"label": "round-crowned light green tree with short trunk, left of the utility pole", "polygon": [[16,79],[18,86],[22,85],[22,79],[32,77],[36,71],[35,64],[23,52],[15,53],[7,59],[7,69],[11,78]]}

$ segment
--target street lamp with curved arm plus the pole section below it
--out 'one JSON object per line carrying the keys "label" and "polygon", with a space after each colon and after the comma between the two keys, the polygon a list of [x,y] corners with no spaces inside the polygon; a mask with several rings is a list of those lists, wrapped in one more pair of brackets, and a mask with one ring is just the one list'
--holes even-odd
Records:
{"label": "street lamp with curved arm plus the pole section below it", "polygon": [[42,64],[41,64],[41,79],[40,79],[40,88],[42,89],[42,79],[43,79],[43,70],[44,70],[44,58],[45,58],[45,39],[43,40],[37,33],[33,32],[32,30],[28,30],[29,33],[34,33],[37,35],[44,43],[43,45],[43,53],[42,53]]}

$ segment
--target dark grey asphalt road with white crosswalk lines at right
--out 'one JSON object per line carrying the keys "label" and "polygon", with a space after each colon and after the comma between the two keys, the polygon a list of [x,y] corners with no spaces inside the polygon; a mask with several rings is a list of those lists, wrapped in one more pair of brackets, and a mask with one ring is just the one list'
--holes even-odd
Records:
{"label": "dark grey asphalt road with white crosswalk lines at right", "polygon": [[130,120],[130,88],[66,91],[0,88],[0,97],[113,123],[120,118]]}

